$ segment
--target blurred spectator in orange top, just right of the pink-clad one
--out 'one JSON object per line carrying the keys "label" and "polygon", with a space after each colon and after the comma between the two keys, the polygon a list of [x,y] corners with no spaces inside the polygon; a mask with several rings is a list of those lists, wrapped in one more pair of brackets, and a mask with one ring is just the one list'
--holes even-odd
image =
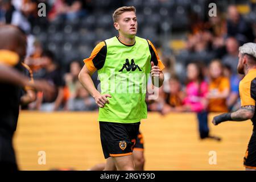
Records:
{"label": "blurred spectator in orange top, just right of the pink-clad one", "polygon": [[209,65],[209,111],[227,112],[226,99],[230,93],[229,78],[223,76],[220,60],[213,60]]}

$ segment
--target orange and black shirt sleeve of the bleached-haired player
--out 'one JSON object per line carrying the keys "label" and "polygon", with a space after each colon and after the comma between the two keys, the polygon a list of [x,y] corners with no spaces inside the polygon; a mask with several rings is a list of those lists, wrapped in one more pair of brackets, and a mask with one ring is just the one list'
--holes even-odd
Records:
{"label": "orange and black shirt sleeve of the bleached-haired player", "polygon": [[240,81],[239,93],[241,106],[255,105],[256,80],[254,79]]}

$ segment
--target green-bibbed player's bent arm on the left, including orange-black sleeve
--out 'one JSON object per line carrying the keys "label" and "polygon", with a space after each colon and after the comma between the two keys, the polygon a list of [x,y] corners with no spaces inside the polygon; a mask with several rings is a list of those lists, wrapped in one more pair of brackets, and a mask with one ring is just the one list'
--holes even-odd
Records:
{"label": "green-bibbed player's bent arm on the left, including orange-black sleeve", "polygon": [[111,96],[110,94],[101,94],[98,92],[93,84],[91,76],[97,69],[101,69],[103,67],[105,59],[106,46],[104,42],[101,42],[93,49],[90,57],[84,60],[85,65],[82,67],[79,73],[79,81],[81,82],[82,86],[84,86],[84,88],[94,98],[96,104],[102,108],[105,106],[105,104],[109,104],[107,97]]}

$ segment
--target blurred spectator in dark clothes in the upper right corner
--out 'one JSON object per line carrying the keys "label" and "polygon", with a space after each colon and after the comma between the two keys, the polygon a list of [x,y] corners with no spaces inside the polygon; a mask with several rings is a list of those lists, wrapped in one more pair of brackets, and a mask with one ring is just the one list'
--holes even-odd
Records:
{"label": "blurred spectator in dark clothes in the upper right corner", "polygon": [[227,36],[235,37],[240,45],[254,41],[252,25],[243,19],[235,5],[228,7],[227,31]]}

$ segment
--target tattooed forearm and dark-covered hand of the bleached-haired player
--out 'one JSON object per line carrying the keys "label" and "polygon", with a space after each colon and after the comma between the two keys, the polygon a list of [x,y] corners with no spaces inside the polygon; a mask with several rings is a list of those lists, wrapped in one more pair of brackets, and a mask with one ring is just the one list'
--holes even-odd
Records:
{"label": "tattooed forearm and dark-covered hand of the bleached-haired player", "polygon": [[237,111],[233,113],[224,113],[217,115],[213,118],[213,125],[218,125],[221,122],[224,121],[246,121],[247,119],[253,118],[255,111],[255,106],[253,105],[247,105],[242,106],[241,109],[238,109]]}

